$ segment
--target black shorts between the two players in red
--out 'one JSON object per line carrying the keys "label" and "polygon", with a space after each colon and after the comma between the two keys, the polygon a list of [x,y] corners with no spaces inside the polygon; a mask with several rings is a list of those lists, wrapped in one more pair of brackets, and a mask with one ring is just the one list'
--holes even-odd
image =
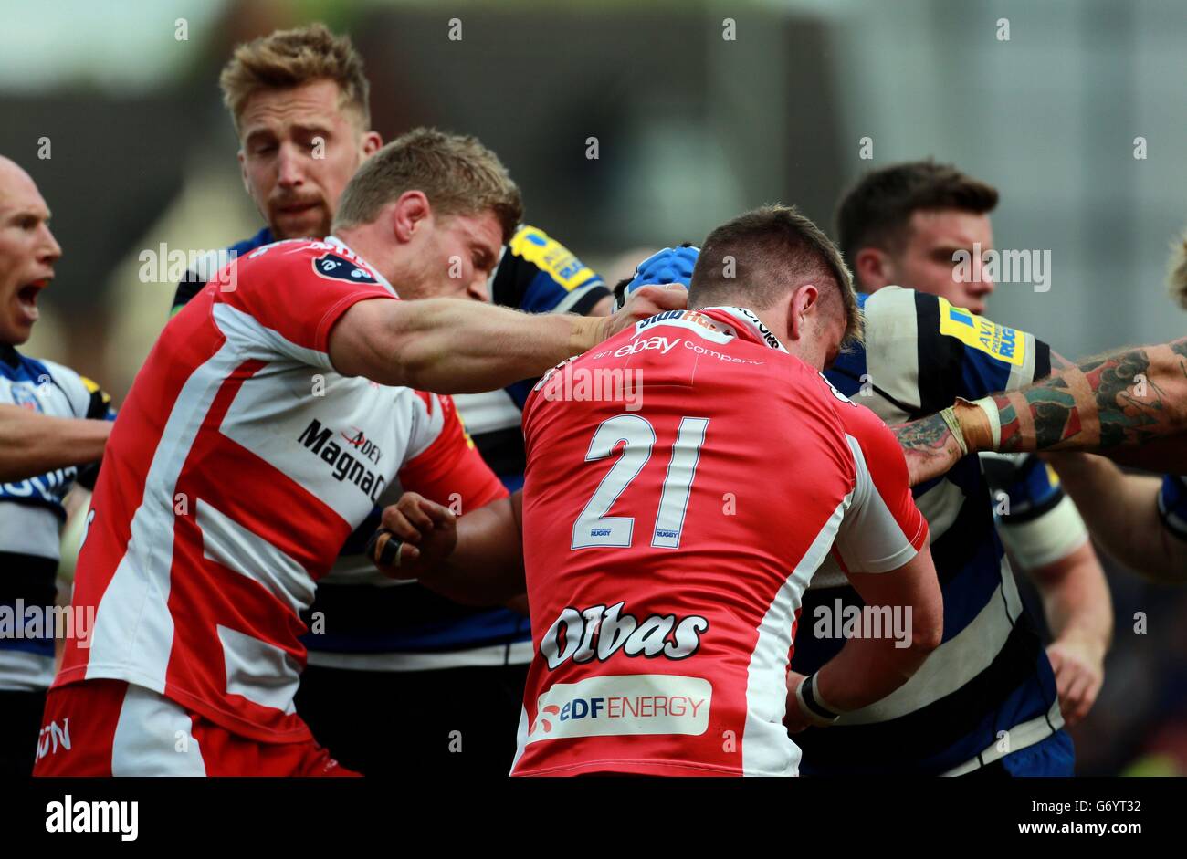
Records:
{"label": "black shorts between the two players in red", "polygon": [[504,778],[527,663],[431,672],[307,666],[297,713],[345,768],[367,776]]}

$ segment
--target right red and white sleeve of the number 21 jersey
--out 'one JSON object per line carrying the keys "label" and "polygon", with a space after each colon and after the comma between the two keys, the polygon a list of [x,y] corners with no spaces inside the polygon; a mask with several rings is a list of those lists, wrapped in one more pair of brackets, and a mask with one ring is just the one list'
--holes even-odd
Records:
{"label": "right red and white sleeve of the number 21 jersey", "polygon": [[846,572],[886,573],[909,561],[927,541],[927,521],[907,483],[907,462],[894,434],[863,406],[838,412],[853,454],[853,497],[837,533]]}

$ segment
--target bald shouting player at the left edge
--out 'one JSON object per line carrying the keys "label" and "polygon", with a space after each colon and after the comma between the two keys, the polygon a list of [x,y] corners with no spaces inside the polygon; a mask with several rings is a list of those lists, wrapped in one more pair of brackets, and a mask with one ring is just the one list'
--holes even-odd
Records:
{"label": "bald shouting player at the left edge", "polygon": [[[61,255],[33,179],[0,155],[0,777],[33,770],[62,617],[44,612],[57,598],[64,500],[94,485],[114,416],[89,378],[17,351]],[[85,621],[69,631],[85,635]]]}

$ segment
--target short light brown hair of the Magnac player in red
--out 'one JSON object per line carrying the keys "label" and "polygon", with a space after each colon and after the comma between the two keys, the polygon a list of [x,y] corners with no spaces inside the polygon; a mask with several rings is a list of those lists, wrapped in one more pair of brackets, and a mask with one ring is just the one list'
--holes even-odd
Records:
{"label": "short light brown hair of the Magnac player in red", "polygon": [[334,229],[370,223],[405,191],[421,191],[438,215],[493,210],[510,241],[523,217],[520,190],[477,138],[415,128],[363,161],[347,184]]}

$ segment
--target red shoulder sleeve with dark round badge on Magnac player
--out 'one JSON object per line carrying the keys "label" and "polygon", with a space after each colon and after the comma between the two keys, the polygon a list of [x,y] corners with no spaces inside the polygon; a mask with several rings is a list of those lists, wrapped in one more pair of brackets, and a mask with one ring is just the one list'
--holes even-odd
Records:
{"label": "red shoulder sleeve with dark round badge on Magnac player", "polygon": [[[357,301],[395,298],[380,276],[345,247],[293,241],[267,244],[235,262],[216,288],[216,323],[287,357],[332,369],[330,329]],[[246,318],[220,320],[218,304]]]}

